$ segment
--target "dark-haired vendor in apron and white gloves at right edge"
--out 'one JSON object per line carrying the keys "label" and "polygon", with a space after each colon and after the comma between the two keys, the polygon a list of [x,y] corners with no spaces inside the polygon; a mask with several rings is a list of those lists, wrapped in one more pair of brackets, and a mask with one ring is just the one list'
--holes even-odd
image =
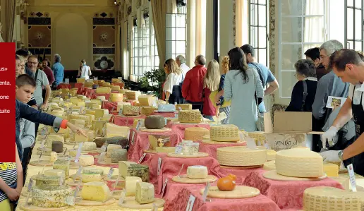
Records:
{"label": "dark-haired vendor in apron and white gloves at right edge", "polygon": [[353,157],[356,174],[364,175],[364,61],[351,49],[341,49],[330,56],[330,66],[336,76],[350,83],[348,98],[332,126],[322,135],[322,146],[332,145],[337,131],[350,119],[355,123],[356,140],[344,150],[321,152],[324,162],[341,162]]}

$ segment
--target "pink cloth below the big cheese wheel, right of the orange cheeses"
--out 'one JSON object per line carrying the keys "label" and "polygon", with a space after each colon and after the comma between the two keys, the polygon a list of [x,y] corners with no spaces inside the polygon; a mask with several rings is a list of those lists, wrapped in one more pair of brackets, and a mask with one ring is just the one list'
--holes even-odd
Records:
{"label": "pink cloth below the big cheese wheel, right of the orange cheeses", "polygon": [[303,191],[306,188],[332,186],[344,189],[339,182],[329,178],[321,181],[274,181],[265,179],[259,172],[248,175],[244,185],[258,188],[260,193],[272,199],[281,209],[300,209],[303,207]]}

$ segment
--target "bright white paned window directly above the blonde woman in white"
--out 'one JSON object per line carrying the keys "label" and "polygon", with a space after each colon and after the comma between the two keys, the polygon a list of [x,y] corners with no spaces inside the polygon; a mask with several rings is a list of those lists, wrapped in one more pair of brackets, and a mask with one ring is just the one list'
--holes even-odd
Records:
{"label": "bright white paned window directly above the blonde woman in white", "polygon": [[186,14],[166,14],[166,59],[186,58]]}

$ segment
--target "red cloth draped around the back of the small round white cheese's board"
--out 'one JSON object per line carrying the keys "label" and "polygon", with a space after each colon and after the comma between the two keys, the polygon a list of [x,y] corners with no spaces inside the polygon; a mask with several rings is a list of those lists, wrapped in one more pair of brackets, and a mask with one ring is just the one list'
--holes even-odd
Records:
{"label": "red cloth draped around the back of the small round white cheese's board", "polygon": [[[217,176],[217,178],[220,178],[221,174],[219,172],[220,166],[219,162],[217,162],[216,159],[213,157],[199,157],[199,158],[176,158],[176,157],[163,157],[162,158],[162,165],[161,165],[161,171],[158,175],[158,186],[157,186],[157,193],[162,193],[162,187],[163,183],[166,180],[166,178],[171,181],[173,176],[178,175],[178,172],[180,171],[182,164],[184,164],[183,169],[181,171],[181,174],[186,174],[187,167],[194,166],[194,165],[200,165],[205,166],[209,170],[209,174],[212,174],[214,176]],[[168,184],[167,184],[168,186]]]}

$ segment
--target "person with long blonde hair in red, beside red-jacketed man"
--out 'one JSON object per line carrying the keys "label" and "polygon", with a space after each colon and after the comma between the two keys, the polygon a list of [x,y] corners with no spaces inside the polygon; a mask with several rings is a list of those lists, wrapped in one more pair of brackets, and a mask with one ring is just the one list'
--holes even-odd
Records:
{"label": "person with long blonde hair in red, beside red-jacketed man", "polygon": [[205,78],[203,78],[203,109],[202,113],[206,119],[212,119],[212,116],[216,116],[216,107],[214,103],[210,100],[211,92],[217,91],[219,89],[220,83],[220,71],[219,63],[216,60],[209,62],[207,66],[207,73]]}

